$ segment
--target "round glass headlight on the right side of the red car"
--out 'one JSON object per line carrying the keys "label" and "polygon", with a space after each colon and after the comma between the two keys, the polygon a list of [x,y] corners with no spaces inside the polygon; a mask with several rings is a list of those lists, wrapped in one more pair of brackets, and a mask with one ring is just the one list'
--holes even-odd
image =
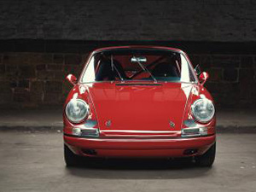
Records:
{"label": "round glass headlight on the right side of the red car", "polygon": [[202,123],[206,123],[211,120],[215,113],[212,101],[206,98],[196,100],[191,106],[191,110],[195,119]]}

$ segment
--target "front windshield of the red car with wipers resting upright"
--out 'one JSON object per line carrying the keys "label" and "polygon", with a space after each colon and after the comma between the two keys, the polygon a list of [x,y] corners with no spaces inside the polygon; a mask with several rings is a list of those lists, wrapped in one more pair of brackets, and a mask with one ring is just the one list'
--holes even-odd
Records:
{"label": "front windshield of the red car with wipers resting upright", "polygon": [[92,55],[82,83],[97,81],[195,82],[183,54],[162,49],[111,49]]}

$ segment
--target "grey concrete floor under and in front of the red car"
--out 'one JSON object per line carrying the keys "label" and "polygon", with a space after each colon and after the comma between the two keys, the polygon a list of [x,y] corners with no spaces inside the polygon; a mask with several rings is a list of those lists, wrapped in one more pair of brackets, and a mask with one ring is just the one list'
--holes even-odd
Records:
{"label": "grey concrete floor under and in front of the red car", "polygon": [[66,168],[61,133],[0,132],[0,191],[256,191],[256,135],[218,135],[211,169],[177,160]]}

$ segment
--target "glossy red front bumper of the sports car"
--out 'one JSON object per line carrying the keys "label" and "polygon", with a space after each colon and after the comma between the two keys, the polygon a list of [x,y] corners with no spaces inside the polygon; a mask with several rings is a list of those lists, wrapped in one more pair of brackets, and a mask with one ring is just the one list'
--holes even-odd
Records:
{"label": "glossy red front bumper of the sports car", "polygon": [[[204,154],[215,143],[215,134],[188,138],[81,138],[64,135],[75,154],[96,157],[184,157]],[[193,149],[195,153],[185,154]],[[87,153],[93,151],[94,153]]]}

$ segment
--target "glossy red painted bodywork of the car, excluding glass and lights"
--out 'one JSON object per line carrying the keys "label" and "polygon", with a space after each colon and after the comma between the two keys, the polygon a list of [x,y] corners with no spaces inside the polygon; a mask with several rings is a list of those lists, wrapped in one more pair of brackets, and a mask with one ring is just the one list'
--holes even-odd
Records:
{"label": "glossy red painted bodywork of the car, excluding glass and lights", "polygon": [[[145,46],[125,46],[119,48],[145,48]],[[166,47],[152,47],[154,49],[179,49]],[[104,49],[96,49],[94,52]],[[184,54],[185,55],[185,54]],[[189,58],[187,55],[187,60]],[[90,57],[89,57],[90,60]],[[85,63],[86,66],[87,62]],[[193,72],[194,73],[194,72]],[[84,72],[82,73],[82,75]],[[81,84],[81,79],[74,85],[67,96],[64,108],[73,97],[83,99],[90,106],[91,119],[97,121],[95,128],[100,129],[99,138],[71,137],[75,125],[63,114],[64,142],[76,154],[86,155],[82,149],[96,149],[97,156],[120,157],[159,157],[159,156],[187,156],[183,151],[197,148],[198,154],[203,154],[215,143],[215,117],[207,124],[198,125],[208,127],[206,137],[181,137],[181,128],[186,127],[183,121],[193,119],[190,107],[195,100],[204,95],[212,101],[212,96],[204,88],[207,73],[201,73],[203,83],[171,83],[132,81],[123,85],[120,82],[96,82]],[[70,76],[69,81],[74,82]],[[136,85],[139,84],[139,85]],[[64,110],[65,111],[65,110]],[[86,120],[86,119],[84,119]],[[106,122],[111,120],[111,126]],[[169,121],[175,126],[171,127]],[[79,125],[83,125],[81,122]]]}

